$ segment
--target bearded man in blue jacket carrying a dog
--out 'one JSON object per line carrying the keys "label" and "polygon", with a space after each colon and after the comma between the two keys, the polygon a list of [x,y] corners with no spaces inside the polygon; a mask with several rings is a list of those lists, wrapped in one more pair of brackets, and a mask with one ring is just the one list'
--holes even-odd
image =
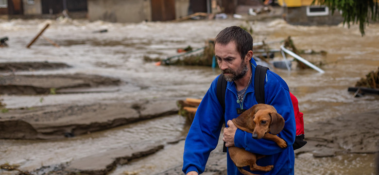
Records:
{"label": "bearded man in blue jacket carrying a dog", "polygon": [[[288,146],[280,148],[274,141],[254,140],[251,133],[244,132],[230,121],[239,116],[237,111],[257,104],[254,93],[254,71],[256,62],[253,56],[253,38],[237,26],[222,30],[215,39],[215,55],[227,82],[225,91],[225,111],[217,96],[218,77],[212,82],[189,129],[183,155],[183,172],[198,175],[204,172],[209,153],[216,148],[223,123],[226,146],[236,146],[261,155],[260,166],[274,165],[269,172],[255,171],[254,174],[293,175],[295,140],[295,120],[293,106],[287,84],[275,73],[268,70],[265,80],[265,103],[273,105],[285,120],[284,129],[278,136]],[[249,167],[244,167],[250,171]],[[227,153],[228,175],[241,175]]]}

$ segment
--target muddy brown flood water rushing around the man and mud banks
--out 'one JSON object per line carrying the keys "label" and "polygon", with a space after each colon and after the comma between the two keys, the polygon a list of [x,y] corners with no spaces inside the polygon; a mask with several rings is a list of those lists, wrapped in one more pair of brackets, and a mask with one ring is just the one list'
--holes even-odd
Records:
{"label": "muddy brown flood water rushing around the man and mud banks", "polygon": [[[60,48],[39,38],[26,46],[46,23],[43,34]],[[0,62],[49,61],[72,66],[63,70],[16,72],[17,74],[100,74],[127,82],[109,93],[57,95],[3,95],[8,108],[51,104],[90,104],[139,99],[202,98],[211,81],[220,73],[208,67],[155,66],[143,56],[167,58],[177,48],[200,48],[208,38],[232,25],[246,25],[243,20],[203,20],[142,23],[108,23],[87,20],[0,20],[0,37],[8,36],[9,47],[0,48]],[[281,41],[291,36],[298,49],[327,51],[326,56],[306,55],[310,61],[326,65],[315,70],[275,69],[298,98],[304,123],[324,121],[347,113],[379,108],[378,95],[353,97],[348,87],[379,66],[379,24],[370,24],[361,36],[358,26],[293,26],[281,19],[254,21],[255,42]],[[106,33],[94,33],[107,29]],[[278,49],[278,48],[275,48]],[[40,99],[44,100],[41,102]],[[0,114],[1,115],[1,114]],[[187,132],[185,119],[178,115],[125,125],[64,140],[0,140],[0,164],[20,164],[20,169],[33,170],[104,151],[139,145],[162,143]],[[134,172],[156,174],[181,165],[184,142],[167,145],[152,156],[119,166],[112,175]],[[311,154],[296,157],[296,175],[374,175],[375,155],[341,154],[314,158]],[[7,173],[7,172],[2,172]]]}

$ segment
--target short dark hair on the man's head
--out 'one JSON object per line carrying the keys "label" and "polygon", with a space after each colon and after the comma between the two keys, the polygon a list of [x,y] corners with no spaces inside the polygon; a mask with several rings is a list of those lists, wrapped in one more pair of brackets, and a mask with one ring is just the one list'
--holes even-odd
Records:
{"label": "short dark hair on the man's head", "polygon": [[216,36],[214,43],[226,45],[231,41],[236,42],[237,51],[240,53],[242,60],[247,52],[253,50],[253,37],[238,26],[226,27]]}

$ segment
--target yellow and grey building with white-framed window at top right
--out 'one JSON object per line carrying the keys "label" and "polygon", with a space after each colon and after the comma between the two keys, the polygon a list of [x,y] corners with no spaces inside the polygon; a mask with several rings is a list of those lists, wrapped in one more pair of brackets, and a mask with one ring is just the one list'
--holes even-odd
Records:
{"label": "yellow and grey building with white-framed window at top right", "polygon": [[284,18],[294,25],[337,25],[344,21],[339,11],[312,4],[313,0],[278,0],[284,8]]}

